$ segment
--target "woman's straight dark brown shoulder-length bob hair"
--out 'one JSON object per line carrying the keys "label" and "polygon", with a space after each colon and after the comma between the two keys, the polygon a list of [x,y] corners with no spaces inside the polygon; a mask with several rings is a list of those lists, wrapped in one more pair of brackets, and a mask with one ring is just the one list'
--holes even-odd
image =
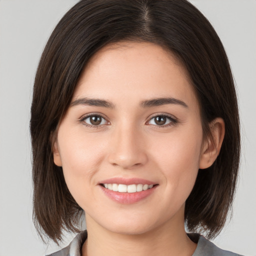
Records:
{"label": "woman's straight dark brown shoulder-length bob hair", "polygon": [[[186,200],[189,231],[216,236],[233,201],[240,156],[237,99],[223,45],[209,21],[187,0],[80,0],[59,21],[41,55],[34,80],[30,133],[33,220],[58,243],[63,230],[79,231],[82,209],[53,162],[52,140],[69,107],[81,71],[109,43],[145,41],[180,61],[199,102],[204,139],[222,117],[225,136],[217,159],[198,171]],[[86,68],[86,67],[85,67]]]}

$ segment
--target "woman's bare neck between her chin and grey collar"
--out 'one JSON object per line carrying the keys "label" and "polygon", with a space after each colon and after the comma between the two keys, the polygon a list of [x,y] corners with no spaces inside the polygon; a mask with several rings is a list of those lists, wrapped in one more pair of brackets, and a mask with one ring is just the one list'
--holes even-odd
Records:
{"label": "woman's bare neck between her chin and grey collar", "polygon": [[142,234],[120,234],[98,225],[86,215],[88,238],[82,246],[82,256],[188,256],[196,244],[184,230],[182,221],[168,221]]}

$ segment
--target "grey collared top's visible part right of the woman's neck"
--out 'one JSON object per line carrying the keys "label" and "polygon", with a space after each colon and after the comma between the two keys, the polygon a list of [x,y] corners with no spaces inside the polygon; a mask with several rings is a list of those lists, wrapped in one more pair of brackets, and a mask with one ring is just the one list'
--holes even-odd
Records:
{"label": "grey collared top's visible part right of the woman's neck", "polygon": [[217,247],[214,243],[205,239],[203,236],[199,235],[197,247],[192,256],[242,256],[240,254],[222,250]]}

